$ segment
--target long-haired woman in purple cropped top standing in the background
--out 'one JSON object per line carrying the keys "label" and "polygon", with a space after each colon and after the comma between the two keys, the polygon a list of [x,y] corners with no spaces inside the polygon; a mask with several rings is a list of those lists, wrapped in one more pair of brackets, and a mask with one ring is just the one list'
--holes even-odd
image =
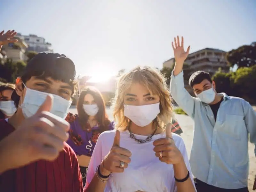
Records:
{"label": "long-haired woman in purple cropped top standing in the background", "polygon": [[68,145],[75,151],[83,178],[86,181],[86,171],[92,151],[100,133],[114,129],[110,122],[103,97],[98,89],[85,87],[77,102],[78,115],[68,113],[66,121],[70,123]]}

